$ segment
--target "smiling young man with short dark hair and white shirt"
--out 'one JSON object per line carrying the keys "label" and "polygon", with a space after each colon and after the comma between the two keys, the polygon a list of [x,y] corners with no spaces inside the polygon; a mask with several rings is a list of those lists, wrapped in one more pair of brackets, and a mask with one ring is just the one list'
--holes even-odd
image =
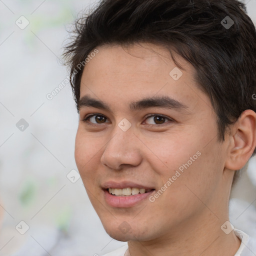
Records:
{"label": "smiling young man with short dark hair and white shirt", "polygon": [[252,256],[228,221],[255,153],[256,32],[236,0],[104,0],[66,48],[75,160],[107,255]]}

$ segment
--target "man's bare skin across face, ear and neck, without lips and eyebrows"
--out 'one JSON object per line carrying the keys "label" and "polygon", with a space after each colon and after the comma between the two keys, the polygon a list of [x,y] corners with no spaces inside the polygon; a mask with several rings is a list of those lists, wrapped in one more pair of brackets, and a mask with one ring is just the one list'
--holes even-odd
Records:
{"label": "man's bare skin across face, ear and neck, without lips and eyebrows", "polygon": [[[220,226],[228,220],[234,170],[247,162],[256,146],[256,113],[245,110],[220,142],[216,115],[189,63],[176,56],[184,70],[175,81],[169,72],[176,65],[162,46],[97,49],[83,70],[80,97],[100,99],[110,110],[80,107],[75,161],[106,232],[128,241],[125,255],[234,255],[240,240]],[[187,108],[129,108],[131,101],[164,95]],[[98,123],[95,116],[82,121],[94,113],[105,121]],[[150,114],[166,118],[156,123],[147,117]],[[118,127],[123,118],[131,123],[127,131]],[[200,156],[154,202],[145,199],[128,208],[105,202],[100,187],[104,181],[129,180],[157,191],[197,151]],[[119,228],[123,221],[130,228],[126,233]]]}

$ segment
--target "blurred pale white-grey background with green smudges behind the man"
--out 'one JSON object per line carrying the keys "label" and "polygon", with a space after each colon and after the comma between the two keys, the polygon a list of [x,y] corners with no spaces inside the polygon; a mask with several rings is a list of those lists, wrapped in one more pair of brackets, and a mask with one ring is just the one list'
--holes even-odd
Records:
{"label": "blurred pale white-grey background with green smudges behind the man", "polygon": [[[79,178],[61,61],[66,30],[96,2],[0,0],[0,256],[102,255],[124,244],[105,233]],[[245,3],[255,23],[256,0]],[[230,222],[256,236],[255,157],[231,197]]]}

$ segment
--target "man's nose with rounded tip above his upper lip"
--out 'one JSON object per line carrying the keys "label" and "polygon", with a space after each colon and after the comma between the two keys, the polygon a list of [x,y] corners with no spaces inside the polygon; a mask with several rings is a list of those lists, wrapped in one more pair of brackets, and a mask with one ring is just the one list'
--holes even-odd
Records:
{"label": "man's nose with rounded tip above his upper lip", "polygon": [[111,169],[120,170],[126,165],[137,166],[141,160],[139,140],[132,129],[123,131],[117,126],[101,155],[101,163]]}

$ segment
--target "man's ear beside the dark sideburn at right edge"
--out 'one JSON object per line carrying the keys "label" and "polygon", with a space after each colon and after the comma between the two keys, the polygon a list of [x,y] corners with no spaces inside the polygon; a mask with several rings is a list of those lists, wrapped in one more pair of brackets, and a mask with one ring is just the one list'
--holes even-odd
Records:
{"label": "man's ear beside the dark sideburn at right edge", "polygon": [[246,164],[256,146],[256,113],[244,110],[233,124],[230,136],[225,167],[238,170]]}

